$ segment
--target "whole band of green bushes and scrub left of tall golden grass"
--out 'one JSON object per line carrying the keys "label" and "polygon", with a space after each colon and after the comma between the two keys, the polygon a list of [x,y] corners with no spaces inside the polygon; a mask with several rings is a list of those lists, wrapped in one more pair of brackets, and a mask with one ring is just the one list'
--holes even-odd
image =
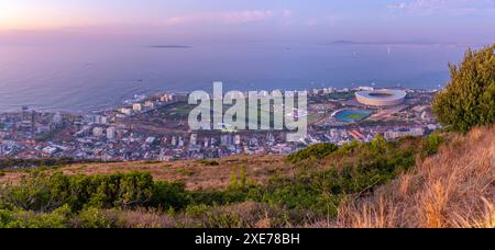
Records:
{"label": "whole band of green bushes and scrub left of tall golden grass", "polygon": [[245,166],[238,166],[224,190],[190,191],[183,183],[154,181],[148,172],[67,175],[31,171],[20,183],[1,188],[0,227],[301,227],[322,219],[330,223],[343,201],[388,183],[416,159],[435,154],[440,138],[314,146],[288,157],[296,164],[294,174],[275,172],[266,184],[255,184]]}

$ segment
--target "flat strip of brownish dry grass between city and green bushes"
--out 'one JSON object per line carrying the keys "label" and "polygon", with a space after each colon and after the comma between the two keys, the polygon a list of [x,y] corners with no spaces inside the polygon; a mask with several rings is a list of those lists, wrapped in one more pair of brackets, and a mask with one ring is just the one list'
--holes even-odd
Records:
{"label": "flat strip of brownish dry grass between city and green bushes", "polygon": [[[231,173],[239,166],[245,167],[250,181],[266,183],[271,173],[289,174],[294,167],[285,162],[284,156],[235,156],[215,159],[218,166],[208,166],[198,160],[176,162],[117,162],[74,164],[59,168],[65,174],[112,174],[133,171],[151,172],[156,181],[179,181],[186,183],[188,190],[226,189],[230,185]],[[55,170],[50,170],[55,171]],[[0,184],[18,183],[25,171],[6,172],[0,177]]]}

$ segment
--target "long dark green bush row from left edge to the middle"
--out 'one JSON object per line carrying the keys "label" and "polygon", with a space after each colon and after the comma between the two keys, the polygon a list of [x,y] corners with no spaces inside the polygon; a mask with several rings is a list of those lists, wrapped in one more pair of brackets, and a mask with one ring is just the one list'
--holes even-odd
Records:
{"label": "long dark green bush row from left edge to the middle", "polygon": [[[243,178],[240,182],[245,183]],[[243,202],[249,195],[245,190],[188,192],[183,183],[154,182],[150,173],[65,175],[62,172],[33,171],[19,185],[1,189],[0,208],[52,212],[67,205],[74,212],[89,207],[180,211],[189,204]]]}

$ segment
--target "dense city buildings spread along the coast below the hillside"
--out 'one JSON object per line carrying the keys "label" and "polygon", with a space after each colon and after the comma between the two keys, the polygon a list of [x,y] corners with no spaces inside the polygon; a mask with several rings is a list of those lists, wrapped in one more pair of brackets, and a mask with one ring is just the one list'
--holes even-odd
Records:
{"label": "dense city buildings spread along the coast below the hillside", "polygon": [[[422,136],[439,127],[431,114],[435,92],[387,90],[387,105],[361,103],[373,88],[309,90],[308,136],[286,141],[287,130],[189,130],[195,106],[187,93],[138,96],[114,110],[90,114],[38,112],[23,107],[0,114],[0,158],[182,160],[231,155],[286,155],[311,144],[339,146],[376,136]],[[407,98],[406,98],[407,93]],[[358,98],[356,98],[358,96]],[[395,103],[395,105],[393,105]],[[227,126],[227,124],[226,124]]]}

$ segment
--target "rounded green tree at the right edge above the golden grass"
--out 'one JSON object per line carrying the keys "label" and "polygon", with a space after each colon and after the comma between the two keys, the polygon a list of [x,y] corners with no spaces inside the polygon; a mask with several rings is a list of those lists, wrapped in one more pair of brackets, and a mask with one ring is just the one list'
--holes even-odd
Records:
{"label": "rounded green tree at the right edge above the golden grass", "polygon": [[495,122],[495,44],[469,49],[463,61],[449,65],[451,81],[433,101],[441,124],[466,133]]}

